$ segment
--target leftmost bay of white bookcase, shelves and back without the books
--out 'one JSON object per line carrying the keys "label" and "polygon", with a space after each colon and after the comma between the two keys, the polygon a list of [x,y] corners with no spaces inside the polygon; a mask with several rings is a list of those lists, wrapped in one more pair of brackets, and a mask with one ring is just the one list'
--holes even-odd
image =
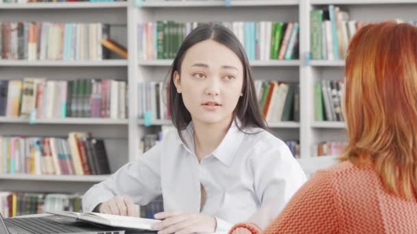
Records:
{"label": "leftmost bay of white bookcase, shelves and back without the books", "polygon": [[[128,46],[128,6],[130,2],[0,3],[0,22],[38,21],[61,23],[108,23],[110,37]],[[134,9],[131,5],[130,8]],[[128,80],[129,60],[112,55],[110,60],[50,61],[1,60],[0,79],[46,77],[69,80],[82,77]],[[134,118],[134,117],[132,117]],[[115,172],[129,161],[126,119],[52,118],[36,119],[0,117],[0,135],[28,135],[67,138],[70,131],[89,131],[102,138],[109,156],[110,170]],[[78,192],[104,181],[108,175],[30,175],[0,174],[0,190],[16,192]]]}

